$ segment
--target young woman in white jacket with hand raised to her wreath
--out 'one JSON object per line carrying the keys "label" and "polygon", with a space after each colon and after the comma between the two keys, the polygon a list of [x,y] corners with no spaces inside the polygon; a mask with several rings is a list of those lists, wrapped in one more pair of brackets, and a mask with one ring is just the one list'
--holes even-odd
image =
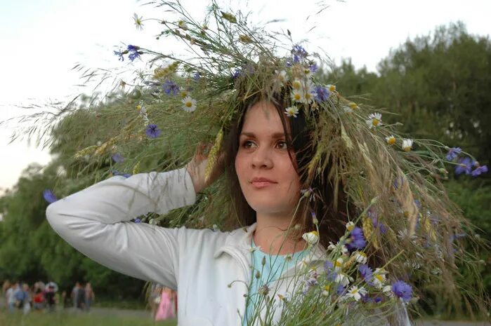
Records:
{"label": "young woman in white jacket with hand raised to her wreath", "polygon": [[[237,125],[238,133],[230,133],[238,135],[230,144],[232,152],[237,149],[233,167],[228,166],[236,171],[230,182],[240,184],[238,195],[255,212],[255,223],[245,229],[164,229],[130,222],[148,212],[164,214],[194,203],[195,194],[212,181],[205,181],[207,158],[199,152],[185,168],[112,177],[63,198],[48,206],[48,222],[100,264],[178,290],[179,325],[242,325],[243,320],[245,325],[254,308],[253,300],[244,297],[251,280],[256,280],[251,277],[253,260],[280,255],[281,264],[275,260],[268,266],[282,269],[275,271],[268,288],[277,287],[275,291],[286,296],[292,285],[274,281],[293,276],[300,257],[312,262],[323,258],[320,247],[312,254],[303,252],[301,233],[292,231],[294,221],[303,219],[295,215],[301,178],[292,127],[279,109],[270,100],[257,100]],[[251,250],[253,244],[257,251]],[[284,264],[287,254],[296,259]],[[279,314],[277,309],[276,318]]]}

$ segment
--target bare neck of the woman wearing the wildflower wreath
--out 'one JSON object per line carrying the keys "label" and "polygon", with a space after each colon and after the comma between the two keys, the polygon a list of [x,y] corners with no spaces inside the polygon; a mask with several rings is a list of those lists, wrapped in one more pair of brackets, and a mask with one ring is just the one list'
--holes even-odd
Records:
{"label": "bare neck of the woman wearing the wildflower wreath", "polygon": [[293,254],[304,250],[305,241],[292,238],[293,228],[290,219],[258,215],[254,243],[267,254]]}

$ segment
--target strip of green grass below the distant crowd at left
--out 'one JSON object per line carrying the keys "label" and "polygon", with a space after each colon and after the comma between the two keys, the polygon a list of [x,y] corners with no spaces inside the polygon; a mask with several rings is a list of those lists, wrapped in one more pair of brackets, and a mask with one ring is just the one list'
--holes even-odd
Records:
{"label": "strip of green grass below the distant crowd at left", "polygon": [[121,316],[74,313],[21,313],[0,312],[1,326],[176,326],[176,320],[155,322],[150,319]]}

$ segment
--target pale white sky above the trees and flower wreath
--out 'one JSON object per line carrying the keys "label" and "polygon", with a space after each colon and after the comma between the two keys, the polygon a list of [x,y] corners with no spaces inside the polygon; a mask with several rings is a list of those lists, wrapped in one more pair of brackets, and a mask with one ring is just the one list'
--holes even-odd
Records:
{"label": "pale white sky above the trees and flower wreath", "polygon": [[[198,18],[208,2],[182,0]],[[171,41],[152,37],[158,25],[145,20],[169,19],[168,13],[144,4],[135,0],[0,0],[0,121],[34,112],[22,107],[66,103],[79,93],[91,93],[93,88],[81,85],[80,74],[72,67],[81,63],[112,72],[126,69],[129,63],[118,61],[112,53],[123,43],[174,50]],[[259,24],[280,19],[268,24],[268,29],[289,29],[294,41],[308,39],[307,50],[322,48],[337,63],[351,57],[355,67],[366,66],[372,72],[391,48],[439,25],[460,20],[471,34],[491,34],[487,17],[491,0],[229,0],[218,4],[251,11],[251,21]],[[143,31],[133,25],[133,13],[143,16]],[[0,125],[0,193],[12,187],[30,163],[51,160],[48,149],[37,147],[35,141],[10,143],[19,128],[15,121]]]}

